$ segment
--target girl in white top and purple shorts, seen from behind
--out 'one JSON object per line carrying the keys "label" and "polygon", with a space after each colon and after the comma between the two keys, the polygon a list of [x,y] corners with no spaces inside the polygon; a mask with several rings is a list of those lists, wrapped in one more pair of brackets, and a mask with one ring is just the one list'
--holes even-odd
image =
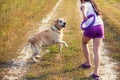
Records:
{"label": "girl in white top and purple shorts, seen from behind", "polygon": [[80,7],[83,15],[83,20],[87,20],[87,16],[90,14],[95,15],[95,23],[84,30],[82,36],[82,48],[86,61],[81,65],[82,68],[90,68],[91,60],[88,50],[88,42],[93,40],[93,52],[94,52],[94,72],[91,75],[95,80],[99,80],[99,67],[100,67],[100,45],[104,38],[104,24],[101,19],[100,9],[94,0],[81,0]]}

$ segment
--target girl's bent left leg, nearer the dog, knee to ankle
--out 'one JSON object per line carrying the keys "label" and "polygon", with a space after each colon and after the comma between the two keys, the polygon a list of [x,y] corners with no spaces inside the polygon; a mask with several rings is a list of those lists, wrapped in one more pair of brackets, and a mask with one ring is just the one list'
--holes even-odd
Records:
{"label": "girl's bent left leg, nearer the dog, knee to ankle", "polygon": [[90,60],[90,53],[89,53],[89,49],[88,49],[88,42],[91,40],[91,38],[86,37],[86,36],[82,36],[82,48],[83,48],[83,52],[86,58],[86,65],[91,66],[91,60]]}

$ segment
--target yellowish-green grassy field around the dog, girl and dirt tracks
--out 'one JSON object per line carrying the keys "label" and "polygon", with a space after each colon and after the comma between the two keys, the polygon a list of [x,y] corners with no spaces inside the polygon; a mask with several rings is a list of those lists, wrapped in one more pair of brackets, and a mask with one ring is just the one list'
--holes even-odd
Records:
{"label": "yellowish-green grassy field around the dog, girl and dirt tracks", "polygon": [[[30,32],[38,28],[40,21],[58,0],[0,0],[0,72],[16,57]],[[120,1],[96,0],[102,10],[105,22],[106,48],[110,56],[120,62]],[[51,3],[51,4],[50,4]],[[29,64],[25,75],[27,80],[87,80],[92,72],[79,67],[83,63],[81,46],[80,16],[77,0],[63,0],[52,20],[65,17],[67,28],[64,40],[69,47],[58,51],[57,45],[49,47],[50,52],[40,59],[40,63]],[[49,5],[48,5],[49,4]],[[52,23],[52,21],[51,21]],[[120,70],[120,67],[118,68]],[[5,74],[0,73],[0,79]]]}

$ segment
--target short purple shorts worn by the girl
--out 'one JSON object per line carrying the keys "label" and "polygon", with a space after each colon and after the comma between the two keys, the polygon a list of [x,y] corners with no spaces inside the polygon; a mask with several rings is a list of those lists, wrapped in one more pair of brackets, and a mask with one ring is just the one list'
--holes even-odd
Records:
{"label": "short purple shorts worn by the girl", "polygon": [[104,26],[96,25],[84,30],[84,36],[90,38],[104,38]]}

